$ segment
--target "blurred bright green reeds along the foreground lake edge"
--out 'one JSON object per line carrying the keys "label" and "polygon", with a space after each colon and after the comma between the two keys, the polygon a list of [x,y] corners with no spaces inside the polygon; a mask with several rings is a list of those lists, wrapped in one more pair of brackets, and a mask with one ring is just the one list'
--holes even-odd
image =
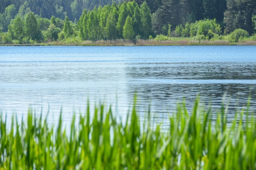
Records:
{"label": "blurred bright green reeds along the foreground lake edge", "polygon": [[117,121],[111,107],[90,110],[88,103],[69,130],[61,114],[53,127],[29,110],[27,121],[13,116],[10,128],[1,114],[0,170],[256,169],[256,120],[249,104],[229,123],[227,106],[213,119],[199,98],[191,113],[178,104],[168,132],[151,120],[150,110],[140,122],[136,99],[126,122]]}

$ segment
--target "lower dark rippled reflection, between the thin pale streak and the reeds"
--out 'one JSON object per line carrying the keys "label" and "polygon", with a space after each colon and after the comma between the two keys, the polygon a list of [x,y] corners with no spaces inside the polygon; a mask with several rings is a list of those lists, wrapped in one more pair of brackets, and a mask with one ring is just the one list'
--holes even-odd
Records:
{"label": "lower dark rippled reflection, between the thin pale streak and the reeds", "polygon": [[[158,122],[168,124],[168,116],[175,113],[177,103],[185,99],[186,108],[191,113],[195,99],[200,94],[201,105],[207,108],[211,103],[213,113],[220,112],[222,102],[228,104],[227,119],[233,120],[235,112],[246,109],[249,91],[255,94],[255,88],[243,84],[138,84],[128,88],[128,94],[138,96],[141,119],[150,104],[151,116]],[[224,98],[225,97],[225,98]],[[250,111],[256,110],[256,95],[252,95]],[[239,112],[238,112],[239,113]],[[216,119],[216,115],[212,115]]]}

